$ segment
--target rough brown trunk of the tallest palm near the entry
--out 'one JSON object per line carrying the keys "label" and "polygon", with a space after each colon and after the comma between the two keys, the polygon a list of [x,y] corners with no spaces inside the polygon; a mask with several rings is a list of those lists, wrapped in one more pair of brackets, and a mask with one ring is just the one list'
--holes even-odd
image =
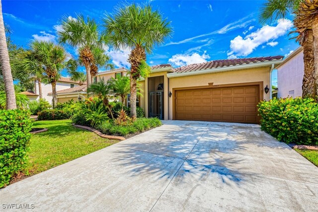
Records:
{"label": "rough brown trunk of the tallest palm near the entry", "polygon": [[136,46],[129,55],[130,68],[130,116],[137,117],[137,79],[140,77],[138,68],[141,61],[146,60],[146,51],[141,46]]}

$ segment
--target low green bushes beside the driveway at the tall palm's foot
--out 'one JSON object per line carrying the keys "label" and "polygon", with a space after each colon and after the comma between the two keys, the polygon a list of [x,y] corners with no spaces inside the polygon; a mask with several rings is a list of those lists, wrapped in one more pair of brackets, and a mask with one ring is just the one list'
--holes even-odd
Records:
{"label": "low green bushes beside the driveway at the tall palm's foot", "polygon": [[160,125],[161,121],[158,118],[137,118],[129,125],[118,125],[110,121],[97,126],[97,129],[104,134],[125,136],[136,132],[143,132]]}

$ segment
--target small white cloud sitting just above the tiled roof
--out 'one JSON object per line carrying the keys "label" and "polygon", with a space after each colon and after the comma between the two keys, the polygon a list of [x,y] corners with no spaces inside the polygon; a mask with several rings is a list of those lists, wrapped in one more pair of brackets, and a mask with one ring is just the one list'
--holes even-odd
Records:
{"label": "small white cloud sitting just above the tiled roof", "polygon": [[169,63],[171,63],[174,66],[185,66],[185,65],[194,64],[194,63],[207,62],[206,59],[209,59],[209,58],[210,56],[206,54],[206,51],[202,55],[199,55],[198,53],[176,54],[169,59]]}

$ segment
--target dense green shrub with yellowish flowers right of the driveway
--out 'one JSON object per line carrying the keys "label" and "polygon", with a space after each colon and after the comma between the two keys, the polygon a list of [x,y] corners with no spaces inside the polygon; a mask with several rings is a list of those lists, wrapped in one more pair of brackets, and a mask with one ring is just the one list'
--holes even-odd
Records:
{"label": "dense green shrub with yellowish flowers right of the driveway", "polygon": [[285,143],[318,145],[318,104],[306,98],[260,102],[261,129]]}

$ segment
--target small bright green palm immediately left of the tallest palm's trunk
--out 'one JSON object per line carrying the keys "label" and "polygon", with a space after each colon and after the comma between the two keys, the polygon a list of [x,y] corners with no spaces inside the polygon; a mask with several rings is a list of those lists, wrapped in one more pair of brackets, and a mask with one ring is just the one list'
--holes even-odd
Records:
{"label": "small bright green palm immediately left of the tallest palm's trunk", "polygon": [[130,92],[130,80],[129,77],[126,76],[118,76],[115,78],[111,78],[109,81],[112,90],[116,96],[121,98],[122,109],[124,108],[125,100],[127,95]]}

